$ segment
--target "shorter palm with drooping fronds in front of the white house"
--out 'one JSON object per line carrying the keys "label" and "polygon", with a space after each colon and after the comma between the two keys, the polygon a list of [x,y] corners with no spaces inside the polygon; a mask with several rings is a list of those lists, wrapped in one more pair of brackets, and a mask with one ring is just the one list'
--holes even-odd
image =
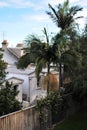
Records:
{"label": "shorter palm with drooping fronds in front of the white house", "polygon": [[27,53],[23,55],[18,62],[18,68],[25,68],[29,63],[34,62],[36,64],[36,77],[39,79],[39,74],[43,67],[47,68],[47,94],[49,94],[49,73],[50,73],[50,63],[55,61],[56,56],[54,53],[54,48],[49,42],[49,36],[47,34],[46,28],[44,28],[43,33],[45,35],[46,41],[43,42],[41,39],[33,36],[29,40],[29,48],[27,48]]}

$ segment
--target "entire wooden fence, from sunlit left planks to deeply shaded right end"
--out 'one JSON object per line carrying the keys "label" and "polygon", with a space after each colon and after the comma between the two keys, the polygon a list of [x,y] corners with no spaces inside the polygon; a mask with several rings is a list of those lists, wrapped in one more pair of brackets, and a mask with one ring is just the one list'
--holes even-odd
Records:
{"label": "entire wooden fence, from sunlit left planks to deeply shaded right end", "polygon": [[[63,96],[64,98],[64,96]],[[65,102],[65,103],[64,103]],[[72,94],[65,95],[64,104],[59,103],[56,107],[57,113],[52,114],[50,110],[43,109],[44,122],[41,124],[39,113],[35,106],[23,109],[0,117],[0,130],[47,130],[66,117],[78,111],[81,107],[87,106],[87,99],[83,105],[73,100]],[[67,106],[67,107],[66,107]]]}

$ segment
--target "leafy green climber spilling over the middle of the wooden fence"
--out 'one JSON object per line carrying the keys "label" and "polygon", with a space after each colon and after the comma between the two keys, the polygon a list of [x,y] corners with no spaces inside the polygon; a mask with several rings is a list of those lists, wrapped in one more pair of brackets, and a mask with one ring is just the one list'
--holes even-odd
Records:
{"label": "leafy green climber spilling over the middle of the wooden fence", "polygon": [[44,117],[46,114],[48,115],[47,111],[57,112],[55,108],[58,102],[58,97],[58,93],[52,92],[46,98],[37,100],[36,110],[39,112],[39,120],[41,125],[46,121]]}

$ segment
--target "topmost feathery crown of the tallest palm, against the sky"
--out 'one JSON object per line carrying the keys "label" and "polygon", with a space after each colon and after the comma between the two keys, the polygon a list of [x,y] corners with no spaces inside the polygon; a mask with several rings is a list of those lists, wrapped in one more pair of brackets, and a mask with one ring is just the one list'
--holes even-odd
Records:
{"label": "topmost feathery crown of the tallest palm, against the sky", "polygon": [[50,4],[48,4],[49,9],[51,11],[47,11],[47,14],[51,17],[54,23],[56,23],[57,27],[64,30],[69,28],[75,21],[75,19],[81,18],[74,17],[78,11],[81,11],[82,8],[79,6],[69,6],[69,1],[66,0],[63,4],[59,4],[57,6],[57,10],[54,9]]}

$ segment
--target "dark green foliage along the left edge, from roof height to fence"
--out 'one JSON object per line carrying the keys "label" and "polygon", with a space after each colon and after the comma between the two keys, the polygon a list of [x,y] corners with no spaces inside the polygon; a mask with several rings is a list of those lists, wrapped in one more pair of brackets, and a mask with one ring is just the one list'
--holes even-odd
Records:
{"label": "dark green foliage along the left edge, from roof height to fence", "polygon": [[2,50],[0,50],[0,116],[21,109],[21,103],[16,100],[18,94],[6,81],[7,64],[4,62]]}

